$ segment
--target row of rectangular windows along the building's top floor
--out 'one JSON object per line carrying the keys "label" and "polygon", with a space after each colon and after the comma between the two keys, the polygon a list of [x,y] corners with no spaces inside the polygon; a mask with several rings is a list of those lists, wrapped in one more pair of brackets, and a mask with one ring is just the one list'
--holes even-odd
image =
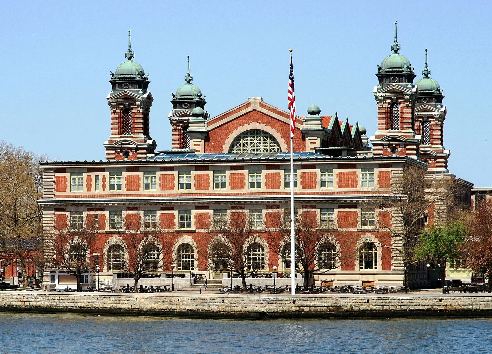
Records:
{"label": "row of rectangular windows along the building's top floor", "polygon": [[[261,189],[262,187],[262,170],[249,170],[248,181],[249,189]],[[109,190],[121,191],[122,190],[122,173],[110,172],[109,173]],[[297,188],[297,170],[294,170],[293,174],[294,188]],[[94,190],[99,191],[99,175],[94,177]],[[83,190],[83,173],[70,174],[70,190],[82,191]],[[361,187],[370,188],[374,186],[374,169],[361,169]],[[226,171],[215,170],[214,171],[214,189],[226,189]],[[320,187],[321,188],[333,188],[333,169],[321,169],[320,170]],[[290,170],[284,170],[284,188],[290,188]],[[156,172],[144,172],[144,190],[156,190],[157,189],[157,174]],[[178,173],[178,189],[190,190],[191,189],[191,171],[181,171]]]}

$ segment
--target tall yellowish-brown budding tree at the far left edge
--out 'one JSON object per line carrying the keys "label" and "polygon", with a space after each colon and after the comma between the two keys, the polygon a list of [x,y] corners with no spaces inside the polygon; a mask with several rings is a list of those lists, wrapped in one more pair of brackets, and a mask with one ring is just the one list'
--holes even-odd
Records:
{"label": "tall yellowish-brown budding tree at the far left edge", "polygon": [[0,150],[0,253],[18,259],[27,279],[27,263],[40,253],[42,242],[41,157],[5,141]]}

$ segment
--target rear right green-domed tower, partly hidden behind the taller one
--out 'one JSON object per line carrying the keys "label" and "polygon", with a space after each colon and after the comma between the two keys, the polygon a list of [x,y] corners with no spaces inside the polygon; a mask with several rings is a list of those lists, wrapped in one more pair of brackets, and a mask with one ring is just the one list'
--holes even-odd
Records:
{"label": "rear right green-domed tower, partly hidden behind the taller one", "polygon": [[429,172],[448,173],[448,158],[451,152],[444,148],[443,126],[446,119],[446,106],[442,104],[442,89],[430,77],[431,70],[426,63],[422,70],[423,78],[417,86],[419,95],[415,104],[415,131],[420,134],[419,156],[429,163]]}

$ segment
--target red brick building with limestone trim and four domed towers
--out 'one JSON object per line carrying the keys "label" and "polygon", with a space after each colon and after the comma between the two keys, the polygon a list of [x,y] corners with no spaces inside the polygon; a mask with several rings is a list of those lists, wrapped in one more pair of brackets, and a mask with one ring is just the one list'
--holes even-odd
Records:
{"label": "red brick building with limestone trim and four domed towers", "polygon": [[[406,165],[454,178],[447,166],[450,152],[443,146],[442,90],[429,77],[427,60],[424,77],[413,84],[414,68],[399,54],[396,28],[391,48],[394,53],[376,74],[378,125],[370,139],[372,148],[364,127],[337,114],[321,116],[316,105],[308,108],[306,117],[297,118],[296,208],[315,213],[321,221],[336,221],[339,231],[360,249],[353,262],[316,276],[318,281],[400,286],[400,260],[379,246],[399,242],[377,228],[379,218],[391,215],[364,210],[364,202],[376,190],[391,192],[393,177]],[[110,80],[106,159],[41,164],[45,240],[56,235],[59,221],[95,218],[101,251],[94,252],[93,262],[100,266],[101,277],[111,278],[117,268],[111,253],[116,229],[124,215],[138,213],[176,234],[175,271],[222,277],[220,270],[210,270],[207,230],[221,215],[242,212],[258,221],[255,256],[263,260],[260,271],[271,272],[273,266],[286,270],[282,257],[269,249],[263,225],[269,213],[289,208],[289,113],[262,98],[249,98],[211,116],[205,96],[192,84],[188,59],[185,83],[171,100],[172,150],[156,151],[149,129],[154,98],[148,75],[132,60],[130,46],[126,58]],[[60,269],[44,274],[52,288],[65,284],[62,278]],[[414,280],[418,283],[418,276]]]}

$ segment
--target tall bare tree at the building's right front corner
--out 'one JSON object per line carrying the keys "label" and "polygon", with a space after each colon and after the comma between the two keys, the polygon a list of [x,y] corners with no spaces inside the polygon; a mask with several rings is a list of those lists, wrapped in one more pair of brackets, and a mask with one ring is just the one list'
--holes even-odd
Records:
{"label": "tall bare tree at the building's right front corner", "polygon": [[[426,224],[445,224],[462,209],[459,197],[463,186],[452,175],[430,175],[423,167],[405,165],[392,174],[391,188],[379,188],[374,198],[363,204],[370,212],[378,211],[376,227],[389,231],[390,242],[376,242],[391,250],[393,259],[403,269],[415,263],[414,248]],[[408,272],[404,272],[404,285]]]}

